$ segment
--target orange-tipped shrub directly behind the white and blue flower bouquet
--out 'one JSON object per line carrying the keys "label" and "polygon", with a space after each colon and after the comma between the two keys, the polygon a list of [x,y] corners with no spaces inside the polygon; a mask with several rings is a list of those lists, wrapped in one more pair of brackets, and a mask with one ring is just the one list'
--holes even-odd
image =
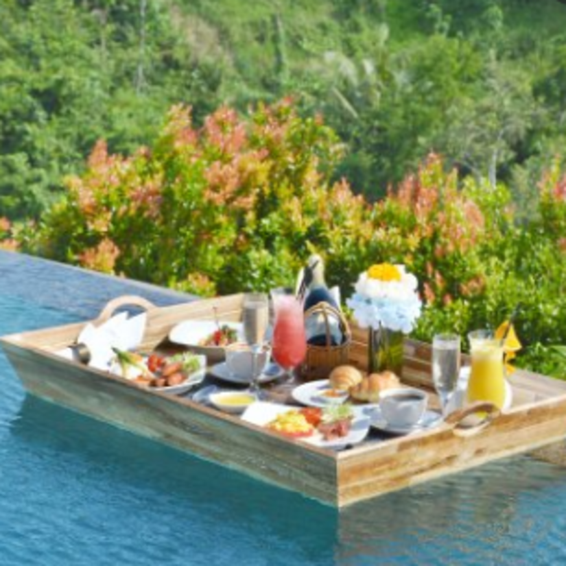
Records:
{"label": "orange-tipped shrub directly behind the white and blue flower bouquet", "polygon": [[429,155],[375,204],[373,223],[375,261],[403,263],[420,282],[431,314],[425,309],[420,327],[431,334],[469,324],[471,306],[485,292],[486,229],[484,213],[460,189],[456,170],[445,172],[442,159]]}

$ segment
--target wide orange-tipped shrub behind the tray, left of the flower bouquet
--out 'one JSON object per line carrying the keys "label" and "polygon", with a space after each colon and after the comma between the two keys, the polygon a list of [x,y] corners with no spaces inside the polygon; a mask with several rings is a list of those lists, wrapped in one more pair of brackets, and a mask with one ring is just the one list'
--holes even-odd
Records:
{"label": "wide orange-tipped shrub behind the tray, left of the flower bouquet", "polygon": [[289,100],[248,119],[220,108],[202,128],[177,106],[152,148],[123,157],[97,143],[36,246],[198,294],[290,284],[314,250],[340,255],[369,232],[362,198],[330,182],[341,151],[320,119],[298,117]]}

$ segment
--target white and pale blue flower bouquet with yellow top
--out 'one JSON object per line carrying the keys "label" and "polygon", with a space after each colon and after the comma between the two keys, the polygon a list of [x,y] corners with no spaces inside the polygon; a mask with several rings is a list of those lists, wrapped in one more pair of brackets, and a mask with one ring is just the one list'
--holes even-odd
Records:
{"label": "white and pale blue flower bouquet with yellow top", "polygon": [[362,328],[410,333],[421,316],[416,277],[405,266],[379,263],[359,275],[355,293],[346,300]]}

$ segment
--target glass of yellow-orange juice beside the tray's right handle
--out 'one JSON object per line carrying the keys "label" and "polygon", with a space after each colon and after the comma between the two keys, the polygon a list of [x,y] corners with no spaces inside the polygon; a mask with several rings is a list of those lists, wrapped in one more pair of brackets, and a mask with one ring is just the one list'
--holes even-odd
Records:
{"label": "glass of yellow-orange juice beside the tray's right handle", "polygon": [[501,409],[505,403],[505,366],[502,340],[489,330],[468,334],[471,353],[471,373],[468,401],[491,401]]}

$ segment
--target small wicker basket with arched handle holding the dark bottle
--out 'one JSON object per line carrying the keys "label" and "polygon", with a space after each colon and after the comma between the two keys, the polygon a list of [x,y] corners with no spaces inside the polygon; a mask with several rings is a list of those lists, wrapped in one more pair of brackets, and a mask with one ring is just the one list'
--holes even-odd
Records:
{"label": "small wicker basket with arched handle holding the dark bottle", "polygon": [[[305,312],[305,320],[310,316],[322,315],[326,326],[326,344],[323,346],[307,344],[307,356],[305,362],[300,366],[300,377],[305,381],[314,379],[326,379],[336,366],[347,364],[349,360],[350,344],[352,334],[346,318],[328,303],[318,303]],[[340,330],[344,336],[342,344],[332,345],[331,318],[338,320]]]}

